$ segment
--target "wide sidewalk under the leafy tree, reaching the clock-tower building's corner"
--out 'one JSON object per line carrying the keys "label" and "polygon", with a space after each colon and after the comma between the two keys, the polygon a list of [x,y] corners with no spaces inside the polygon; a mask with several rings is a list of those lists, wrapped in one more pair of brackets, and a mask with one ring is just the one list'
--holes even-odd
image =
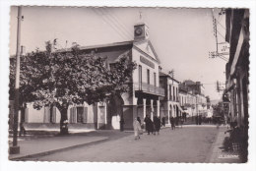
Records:
{"label": "wide sidewalk under the leafy tree, reaching the clock-tower building's corner", "polygon": [[[32,132],[38,132],[33,130]],[[32,135],[27,138],[19,138],[19,154],[9,155],[10,160],[23,160],[24,158],[47,155],[67,149],[72,149],[84,145],[96,144],[117,140],[132,135],[132,133],[120,132],[119,130],[70,130],[70,135],[58,136],[55,131],[46,135]]]}

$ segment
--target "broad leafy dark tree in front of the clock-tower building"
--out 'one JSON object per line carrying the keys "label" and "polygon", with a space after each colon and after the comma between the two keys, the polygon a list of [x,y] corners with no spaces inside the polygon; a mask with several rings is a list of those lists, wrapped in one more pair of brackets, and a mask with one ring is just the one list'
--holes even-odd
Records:
{"label": "broad leafy dark tree in front of the clock-tower building", "polygon": [[[66,122],[69,105],[93,104],[111,94],[129,90],[127,82],[136,64],[124,54],[111,66],[105,58],[85,54],[75,44],[71,51],[52,52],[46,42],[46,51],[32,52],[21,60],[22,102],[33,102],[35,109],[55,105],[61,114],[60,134],[68,134]],[[15,63],[11,63],[10,94],[13,89]],[[10,95],[11,96],[11,95]]]}

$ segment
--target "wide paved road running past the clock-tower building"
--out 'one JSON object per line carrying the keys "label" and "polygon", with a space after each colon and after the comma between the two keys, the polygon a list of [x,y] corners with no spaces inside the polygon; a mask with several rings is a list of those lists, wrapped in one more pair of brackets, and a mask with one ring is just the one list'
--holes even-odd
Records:
{"label": "wide paved road running past the clock-tower building", "polygon": [[116,161],[116,162],[205,162],[218,130],[215,127],[183,127],[160,131],[159,136],[144,134],[74,148],[26,160],[39,161]]}

